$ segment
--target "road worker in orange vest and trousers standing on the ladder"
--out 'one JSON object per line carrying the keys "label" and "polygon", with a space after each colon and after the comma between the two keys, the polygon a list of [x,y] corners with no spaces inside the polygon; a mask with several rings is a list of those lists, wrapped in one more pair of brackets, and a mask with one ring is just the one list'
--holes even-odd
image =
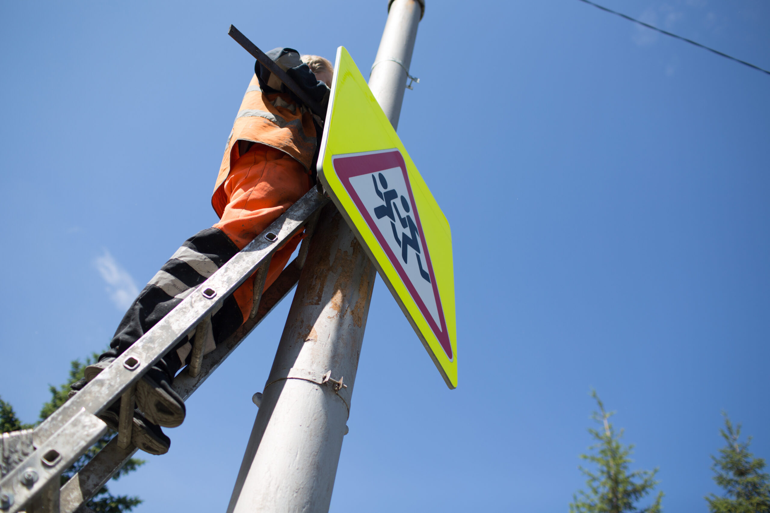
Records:
{"label": "road worker in orange vest and trousers standing on the ladder", "polygon": [[[310,98],[326,106],[333,75],[328,60],[317,55],[300,56],[292,48],[275,48],[267,55]],[[219,222],[187,239],[142,289],[115,331],[109,351],[85,368],[85,378],[72,385],[73,393],[139,340],[315,184],[320,118],[259,62],[254,72],[214,185],[211,204]],[[273,255],[264,288],[280,275],[301,238],[302,234],[296,235]],[[204,354],[213,351],[249,318],[253,283],[252,276],[213,311]],[[132,442],[150,454],[161,455],[169,450],[171,441],[161,426],[174,428],[184,421],[185,405],[172,382],[179,369],[189,364],[192,337],[194,334],[182,338],[136,385]],[[119,402],[100,415],[115,430]]]}

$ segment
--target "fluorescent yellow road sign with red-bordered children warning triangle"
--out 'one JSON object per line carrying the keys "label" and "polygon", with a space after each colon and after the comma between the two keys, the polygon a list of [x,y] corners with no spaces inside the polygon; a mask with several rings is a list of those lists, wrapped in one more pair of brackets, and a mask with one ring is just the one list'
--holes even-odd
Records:
{"label": "fluorescent yellow road sign with red-bordered children warning triangle", "polygon": [[337,48],[318,176],[450,388],[457,327],[449,222],[345,48]]}

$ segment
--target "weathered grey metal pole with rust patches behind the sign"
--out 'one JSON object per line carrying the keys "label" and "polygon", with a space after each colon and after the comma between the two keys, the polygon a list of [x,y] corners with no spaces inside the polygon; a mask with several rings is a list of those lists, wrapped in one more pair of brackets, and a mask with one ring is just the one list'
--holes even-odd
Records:
{"label": "weathered grey metal pole with rust patches behind the sign", "polygon": [[[408,69],[423,0],[390,0],[377,58]],[[383,57],[384,56],[384,57]],[[385,60],[370,88],[396,127],[407,72]],[[391,65],[392,64],[392,65]],[[333,205],[320,216],[263,391],[228,513],[329,511],[375,269]]]}

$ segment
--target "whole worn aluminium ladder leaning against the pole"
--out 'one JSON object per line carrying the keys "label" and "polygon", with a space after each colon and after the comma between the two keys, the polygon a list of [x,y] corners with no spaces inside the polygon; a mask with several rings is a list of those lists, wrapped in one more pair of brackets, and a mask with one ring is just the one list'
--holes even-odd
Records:
{"label": "whole worn aluminium ladder leaning against the pole", "polygon": [[[191,362],[179,372],[173,384],[186,401],[294,288],[320,209],[328,201],[317,188],[311,188],[41,425],[34,430],[2,435],[0,511],[88,513],[90,510],[85,504],[137,451],[131,443],[136,382],[177,342],[195,332]],[[273,253],[303,228],[306,237],[298,255],[262,293],[263,287],[259,284],[264,285]],[[214,351],[203,356],[211,311],[255,271],[254,302],[249,319]],[[118,435],[59,488],[62,472],[107,432],[107,425],[97,415],[118,398],[122,398]]]}

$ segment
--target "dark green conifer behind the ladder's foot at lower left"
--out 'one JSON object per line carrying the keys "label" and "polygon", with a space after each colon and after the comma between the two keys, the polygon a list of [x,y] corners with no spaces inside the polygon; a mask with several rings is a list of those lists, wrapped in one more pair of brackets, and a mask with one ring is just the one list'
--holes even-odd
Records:
{"label": "dark green conifer behind the ladder's foot at lower left", "polygon": [[[51,400],[43,404],[43,407],[40,410],[40,418],[38,424],[44,421],[45,418],[56,411],[56,408],[59,408],[59,406],[63,405],[67,401],[70,391],[69,385],[72,385],[72,383],[83,377],[85,367],[89,365],[97,356],[98,355],[92,355],[92,358],[87,358],[85,364],[81,363],[79,360],[71,361],[69,368],[69,379],[67,382],[59,386],[59,388],[49,385]],[[0,428],[2,428],[3,433],[7,431],[18,431],[19,429],[34,427],[35,425],[32,424],[22,424],[22,421],[18,419],[15,411],[13,410],[13,407],[7,402],[3,401],[2,398],[0,398]],[[69,481],[69,478],[72,478],[72,476],[79,472],[83,467],[85,467],[85,465],[91,461],[96,453],[99,452],[102,447],[107,445],[107,442],[109,442],[114,435],[115,433],[108,431],[107,434],[99,439],[96,445],[92,446],[92,448],[89,448],[89,450],[86,451],[85,455],[82,455],[80,458],[78,458],[72,467],[62,472],[62,485]],[[123,465],[123,467],[115,473],[113,479],[118,479],[123,475],[129,474],[129,472],[135,471],[136,468],[139,468],[139,466],[143,464],[143,460],[131,458],[129,461],[126,461],[126,465]],[[89,501],[88,506],[96,513],[128,513],[141,503],[142,499],[138,497],[129,497],[127,495],[112,495],[109,493],[109,489],[104,486],[101,490],[99,490],[95,497]]]}

